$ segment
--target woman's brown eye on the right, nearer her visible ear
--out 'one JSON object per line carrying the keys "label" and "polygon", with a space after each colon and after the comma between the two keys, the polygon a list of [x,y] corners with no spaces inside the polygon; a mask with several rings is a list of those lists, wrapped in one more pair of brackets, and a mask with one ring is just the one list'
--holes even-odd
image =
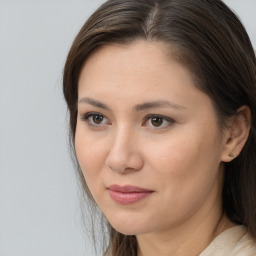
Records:
{"label": "woman's brown eye on the right, nearer her visible ear", "polygon": [[170,117],[162,115],[148,115],[143,122],[143,126],[150,126],[154,129],[164,129],[172,125],[175,121]]}

